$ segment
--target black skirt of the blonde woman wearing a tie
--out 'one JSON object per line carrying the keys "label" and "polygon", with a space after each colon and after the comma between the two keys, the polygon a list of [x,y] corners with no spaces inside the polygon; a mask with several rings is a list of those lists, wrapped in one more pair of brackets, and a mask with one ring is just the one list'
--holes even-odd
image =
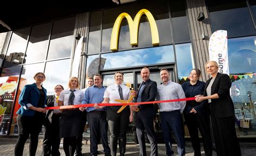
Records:
{"label": "black skirt of the blonde woman wearing a tie", "polygon": [[64,110],[59,121],[59,137],[76,137],[82,126],[82,111],[78,109]]}

